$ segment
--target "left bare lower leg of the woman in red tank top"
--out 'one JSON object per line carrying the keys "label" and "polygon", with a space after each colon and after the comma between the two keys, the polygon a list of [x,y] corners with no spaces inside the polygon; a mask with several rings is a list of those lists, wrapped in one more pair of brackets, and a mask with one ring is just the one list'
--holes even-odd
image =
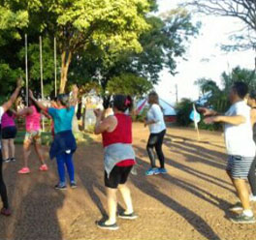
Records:
{"label": "left bare lower leg of the woman in red tank top", "polygon": [[108,198],[108,212],[109,212],[109,219],[106,221],[106,225],[113,225],[116,223],[116,191],[117,189],[107,189],[107,198]]}

